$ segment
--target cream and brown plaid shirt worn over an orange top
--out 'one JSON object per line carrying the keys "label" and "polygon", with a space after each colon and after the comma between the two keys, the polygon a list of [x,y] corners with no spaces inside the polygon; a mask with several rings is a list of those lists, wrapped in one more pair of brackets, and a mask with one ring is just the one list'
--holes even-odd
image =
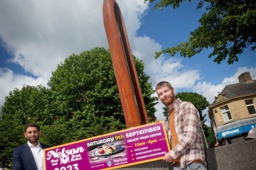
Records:
{"label": "cream and brown plaid shirt worn over an orange top", "polygon": [[[200,116],[196,107],[190,102],[181,101],[177,98],[174,103],[174,109],[174,124],[178,136],[178,145],[171,149],[171,157],[176,159],[181,156],[181,169],[198,159],[206,164]],[[169,126],[169,120],[167,126]],[[171,141],[169,127],[168,135]]]}

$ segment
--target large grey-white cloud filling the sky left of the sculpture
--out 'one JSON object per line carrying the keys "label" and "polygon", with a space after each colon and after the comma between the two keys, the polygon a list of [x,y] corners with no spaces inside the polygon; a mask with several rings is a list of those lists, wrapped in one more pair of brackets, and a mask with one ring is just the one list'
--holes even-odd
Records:
{"label": "large grey-white cloud filling the sky left of the sculpture", "polygon": [[14,62],[49,79],[73,52],[107,47],[100,2],[1,1],[1,38],[12,47]]}

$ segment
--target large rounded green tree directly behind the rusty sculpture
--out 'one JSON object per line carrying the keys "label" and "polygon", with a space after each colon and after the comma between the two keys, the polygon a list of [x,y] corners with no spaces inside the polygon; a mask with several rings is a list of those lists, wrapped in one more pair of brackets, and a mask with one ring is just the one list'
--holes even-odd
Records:
{"label": "large rounded green tree directly behind the rusty sculpture", "polygon": [[[154,121],[156,98],[144,74],[144,64],[134,58],[146,111]],[[86,131],[90,137],[125,128],[122,104],[109,50],[95,47],[80,55],[71,55],[48,82],[57,114],[57,124]],[[92,128],[93,127],[93,128]],[[104,127],[104,128],[102,128]]]}

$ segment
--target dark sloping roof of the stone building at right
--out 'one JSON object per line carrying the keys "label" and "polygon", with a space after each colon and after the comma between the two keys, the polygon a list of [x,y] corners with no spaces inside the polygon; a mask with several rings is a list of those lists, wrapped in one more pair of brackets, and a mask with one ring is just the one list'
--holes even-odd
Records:
{"label": "dark sloping roof of the stone building at right", "polygon": [[220,101],[224,101],[228,98],[233,98],[237,96],[244,96],[246,94],[256,93],[256,80],[252,80],[249,82],[240,82],[238,84],[230,84],[225,86],[223,91],[218,94],[218,97],[215,98],[215,101],[210,105],[215,103],[219,103]]}

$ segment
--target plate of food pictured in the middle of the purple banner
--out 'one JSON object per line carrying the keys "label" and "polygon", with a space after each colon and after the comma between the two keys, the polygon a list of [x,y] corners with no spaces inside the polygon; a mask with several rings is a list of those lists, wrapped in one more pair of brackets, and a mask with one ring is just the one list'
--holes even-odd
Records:
{"label": "plate of food pictured in the middle of the purple banner", "polygon": [[95,157],[106,157],[112,154],[117,154],[122,152],[124,147],[121,145],[114,145],[114,143],[110,145],[102,145],[95,150]]}

